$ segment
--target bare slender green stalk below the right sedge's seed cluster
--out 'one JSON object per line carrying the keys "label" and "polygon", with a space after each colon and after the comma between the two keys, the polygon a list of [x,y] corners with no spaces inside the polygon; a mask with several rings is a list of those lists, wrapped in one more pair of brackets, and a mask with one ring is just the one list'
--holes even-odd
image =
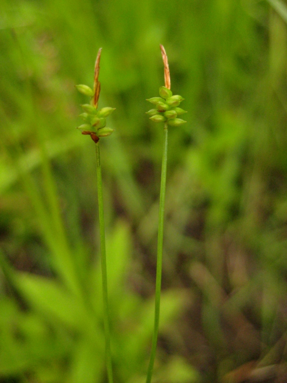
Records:
{"label": "bare slender green stalk below the right sedge's seed cluster", "polygon": [[166,165],[167,165],[167,124],[164,124],[164,140],[161,165],[160,195],[159,195],[159,219],[158,219],[158,237],[157,237],[157,260],[156,260],[156,282],[155,282],[155,307],[154,307],[154,328],[152,334],[152,343],[150,359],[147,369],[146,383],[150,383],[153,364],[155,359],[156,344],[159,327],[160,311],[160,289],[161,289],[161,269],[162,269],[162,242],[163,242],[163,219],[164,219],[164,199],[166,186]]}

